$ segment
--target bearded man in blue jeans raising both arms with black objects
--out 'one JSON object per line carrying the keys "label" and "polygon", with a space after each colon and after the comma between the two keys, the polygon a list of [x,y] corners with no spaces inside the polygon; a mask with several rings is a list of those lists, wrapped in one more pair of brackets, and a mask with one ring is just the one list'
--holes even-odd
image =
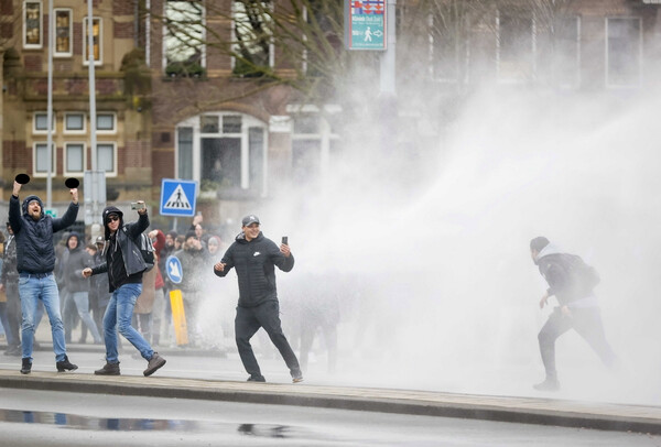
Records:
{"label": "bearded man in blue jeans raising both arms with black objects", "polygon": [[[78,216],[78,189],[72,188],[72,203],[61,219],[44,215],[44,206],[37,196],[28,196],[21,206],[21,184],[14,182],[9,199],[9,222],[17,243],[17,270],[19,271],[19,296],[23,321],[21,373],[32,371],[32,345],[34,342],[36,306],[41,299],[48,314],[53,335],[55,367],[58,372],[73,371],[78,367],[69,362],[64,341],[64,325],[59,314],[59,292],[53,276],[55,250],[53,233],[76,221]],[[22,211],[22,212],[21,212]]]}

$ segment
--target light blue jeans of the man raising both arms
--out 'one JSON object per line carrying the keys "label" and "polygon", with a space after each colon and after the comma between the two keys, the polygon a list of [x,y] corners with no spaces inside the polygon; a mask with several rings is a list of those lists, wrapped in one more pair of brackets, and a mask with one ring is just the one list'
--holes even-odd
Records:
{"label": "light blue jeans of the man raising both arms", "polygon": [[51,321],[53,335],[53,351],[55,360],[62,361],[66,356],[64,342],[64,325],[59,314],[59,292],[53,274],[39,277],[40,275],[21,274],[19,277],[19,296],[21,297],[21,310],[23,321],[21,325],[23,358],[32,361],[32,344],[34,342],[34,329],[36,306],[39,301],[44,304],[46,314]]}

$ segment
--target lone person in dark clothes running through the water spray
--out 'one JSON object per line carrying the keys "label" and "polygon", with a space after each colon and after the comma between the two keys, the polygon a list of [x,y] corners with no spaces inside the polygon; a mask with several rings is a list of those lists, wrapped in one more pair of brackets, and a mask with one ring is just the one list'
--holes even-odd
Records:
{"label": "lone person in dark clothes running through the water spray", "polygon": [[534,389],[557,391],[560,382],[555,370],[555,340],[567,330],[575,329],[606,366],[614,366],[616,356],[606,341],[602,312],[593,291],[599,282],[594,269],[579,257],[559,251],[543,236],[530,241],[530,254],[549,283],[549,290],[540,301],[540,308],[553,295],[560,304],[538,336],[546,379],[535,384]]}

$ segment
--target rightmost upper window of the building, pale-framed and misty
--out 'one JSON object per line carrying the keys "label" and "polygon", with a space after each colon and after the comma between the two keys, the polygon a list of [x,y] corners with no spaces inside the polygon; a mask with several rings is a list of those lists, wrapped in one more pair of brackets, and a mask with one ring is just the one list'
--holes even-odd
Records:
{"label": "rightmost upper window of the building, pale-framed and misty", "polygon": [[642,36],[640,19],[607,19],[606,85],[633,87],[640,84]]}

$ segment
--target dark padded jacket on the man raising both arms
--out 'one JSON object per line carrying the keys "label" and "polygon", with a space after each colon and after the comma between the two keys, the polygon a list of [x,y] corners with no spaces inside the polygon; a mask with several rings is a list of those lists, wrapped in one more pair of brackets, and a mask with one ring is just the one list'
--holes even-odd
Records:
{"label": "dark padded jacket on the man raising both arms", "polygon": [[[42,206],[39,220],[28,215],[28,204],[37,200]],[[22,208],[22,212],[21,212]],[[78,216],[78,205],[73,201],[61,219],[44,215],[44,207],[36,196],[28,196],[22,207],[13,194],[9,199],[9,224],[17,238],[17,269],[25,273],[51,273],[55,268],[53,233],[72,226]]]}

